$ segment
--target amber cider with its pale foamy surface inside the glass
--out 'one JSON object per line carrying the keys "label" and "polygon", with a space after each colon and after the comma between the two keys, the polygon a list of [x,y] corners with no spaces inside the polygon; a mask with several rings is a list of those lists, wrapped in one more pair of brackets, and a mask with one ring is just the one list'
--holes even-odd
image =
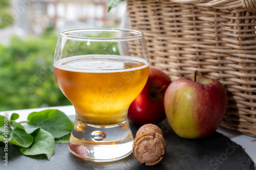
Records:
{"label": "amber cider with its pale foamy surface inside the glass", "polygon": [[74,56],[58,60],[54,75],[76,118],[91,125],[120,124],[142,91],[148,62],[136,57]]}

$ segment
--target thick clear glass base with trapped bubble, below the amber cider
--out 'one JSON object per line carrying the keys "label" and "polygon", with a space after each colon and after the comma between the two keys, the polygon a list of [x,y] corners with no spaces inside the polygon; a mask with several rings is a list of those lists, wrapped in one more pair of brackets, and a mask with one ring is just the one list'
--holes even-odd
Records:
{"label": "thick clear glass base with trapped bubble, below the amber cider", "polygon": [[84,160],[110,162],[129,156],[133,140],[127,120],[114,126],[94,126],[76,119],[69,149]]}

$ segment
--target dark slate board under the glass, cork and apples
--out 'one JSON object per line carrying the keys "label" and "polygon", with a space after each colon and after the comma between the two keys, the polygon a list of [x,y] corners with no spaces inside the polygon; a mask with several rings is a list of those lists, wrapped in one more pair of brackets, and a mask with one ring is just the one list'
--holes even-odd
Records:
{"label": "dark slate board under the glass, cork and apples", "polygon": [[[70,117],[74,119],[74,116]],[[130,122],[135,136],[139,125]],[[4,144],[0,144],[0,169],[253,169],[254,163],[240,145],[216,132],[202,139],[184,139],[170,129],[166,120],[158,124],[164,133],[167,152],[164,159],[155,166],[145,166],[130,156],[115,162],[94,163],[77,158],[70,153],[68,144],[56,143],[50,161],[44,155],[24,156],[18,147],[9,144],[8,166],[4,165]]]}

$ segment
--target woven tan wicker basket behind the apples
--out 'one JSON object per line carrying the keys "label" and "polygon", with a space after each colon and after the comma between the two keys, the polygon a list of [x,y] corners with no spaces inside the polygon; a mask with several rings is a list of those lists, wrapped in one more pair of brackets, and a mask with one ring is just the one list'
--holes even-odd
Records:
{"label": "woven tan wicker basket behind the apples", "polygon": [[172,81],[201,74],[228,92],[221,126],[256,136],[256,1],[126,0],[130,28],[142,31],[151,66]]}

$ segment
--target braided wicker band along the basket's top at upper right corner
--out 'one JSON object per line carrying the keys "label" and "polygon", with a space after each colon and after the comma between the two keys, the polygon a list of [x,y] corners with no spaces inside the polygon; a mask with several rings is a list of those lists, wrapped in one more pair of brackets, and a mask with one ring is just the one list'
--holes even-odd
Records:
{"label": "braided wicker band along the basket's top at upper right corner", "polygon": [[255,0],[169,0],[174,3],[190,3],[200,7],[212,7],[217,9],[244,8],[256,13]]}

